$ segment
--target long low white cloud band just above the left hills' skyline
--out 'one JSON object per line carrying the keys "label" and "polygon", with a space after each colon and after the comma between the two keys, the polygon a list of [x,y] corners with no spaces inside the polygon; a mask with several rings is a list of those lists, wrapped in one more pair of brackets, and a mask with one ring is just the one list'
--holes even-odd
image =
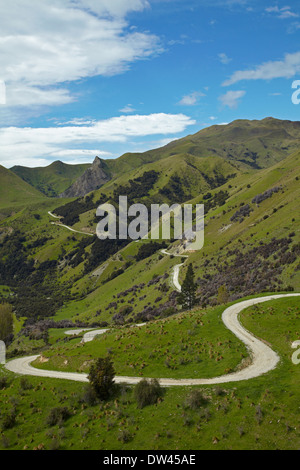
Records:
{"label": "long low white cloud band just above the left hills' skyline", "polygon": [[[96,121],[89,126],[3,127],[0,128],[0,155],[5,156],[5,160],[1,164],[6,167],[17,164],[37,166],[42,161],[49,164],[49,160],[59,155],[68,158],[95,156],[95,147],[90,149],[95,144],[127,142],[132,137],[178,134],[193,124],[195,121],[184,114],[150,114],[120,116]],[[101,152],[97,150],[96,154]]]}

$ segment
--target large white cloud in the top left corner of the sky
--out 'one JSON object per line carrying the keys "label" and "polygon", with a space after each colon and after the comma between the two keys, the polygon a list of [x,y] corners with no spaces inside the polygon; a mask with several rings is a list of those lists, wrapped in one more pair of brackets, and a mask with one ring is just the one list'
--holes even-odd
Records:
{"label": "large white cloud in the top left corner of the sky", "polygon": [[30,7],[24,0],[1,2],[0,78],[8,86],[7,105],[69,103],[74,97],[61,84],[122,73],[161,52],[157,36],[128,28],[126,14],[147,6],[145,0],[31,0]]}

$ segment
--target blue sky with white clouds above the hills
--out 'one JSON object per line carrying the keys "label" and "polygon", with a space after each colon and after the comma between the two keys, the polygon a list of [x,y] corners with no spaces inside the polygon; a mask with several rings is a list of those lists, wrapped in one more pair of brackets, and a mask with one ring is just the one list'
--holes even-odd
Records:
{"label": "blue sky with white clouds above the hills", "polygon": [[299,35],[295,0],[0,0],[0,164],[91,163],[236,119],[298,121]]}

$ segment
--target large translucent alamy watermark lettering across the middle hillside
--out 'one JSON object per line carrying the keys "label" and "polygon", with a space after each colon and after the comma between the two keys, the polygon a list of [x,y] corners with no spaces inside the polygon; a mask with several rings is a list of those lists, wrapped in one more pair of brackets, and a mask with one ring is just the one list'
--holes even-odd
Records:
{"label": "large translucent alamy watermark lettering across the middle hillside", "polygon": [[101,204],[96,215],[102,217],[96,229],[100,240],[183,240],[185,251],[204,246],[203,204],[151,204],[149,211],[144,204],[128,207],[127,196],[120,196],[117,209]]}

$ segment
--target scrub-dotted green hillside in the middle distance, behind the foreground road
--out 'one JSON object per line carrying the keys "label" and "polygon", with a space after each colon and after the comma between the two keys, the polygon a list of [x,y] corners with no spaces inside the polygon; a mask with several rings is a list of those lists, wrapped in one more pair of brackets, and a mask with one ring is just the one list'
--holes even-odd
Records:
{"label": "scrub-dotted green hillside in the middle distance, behind the foreground road", "polygon": [[[50,217],[45,207],[39,210],[39,221],[28,211],[26,222],[23,213],[2,222],[3,230],[15,233],[2,247],[6,256],[19,243],[17,232],[25,233],[19,250],[25,265],[17,267],[20,281],[24,272],[29,274],[28,282],[30,276],[34,282],[39,279],[28,265],[31,259],[35,270],[43,273],[44,297],[39,300],[33,299],[33,292],[40,280],[30,288],[23,282],[18,287],[20,301],[15,305],[21,316],[28,309],[37,318],[44,315],[42,311],[56,312],[58,320],[100,325],[145,321],[180,311],[171,283],[172,269],[180,259],[162,255],[165,245],[150,245],[145,251],[147,241],[103,242],[84,235],[95,233],[95,210],[101,198],[117,202],[118,195],[127,190],[130,203],[173,203],[178,202],[176,197],[179,202],[204,203],[205,245],[189,257],[200,305],[215,305],[218,289],[224,285],[229,300],[266,291],[299,290],[299,152],[267,169],[235,169],[235,176],[232,164],[217,157],[174,156],[172,169],[170,158],[134,170],[130,184],[122,177],[65,206],[55,207],[53,201],[51,210],[64,216],[63,223],[83,233],[59,227],[58,219]],[[167,241],[167,246],[171,253],[180,250],[178,241]],[[185,269],[180,270],[181,281]],[[5,263],[3,272],[1,284],[10,285]],[[16,279],[14,272],[14,284]],[[52,289],[54,297],[49,301]]]}

